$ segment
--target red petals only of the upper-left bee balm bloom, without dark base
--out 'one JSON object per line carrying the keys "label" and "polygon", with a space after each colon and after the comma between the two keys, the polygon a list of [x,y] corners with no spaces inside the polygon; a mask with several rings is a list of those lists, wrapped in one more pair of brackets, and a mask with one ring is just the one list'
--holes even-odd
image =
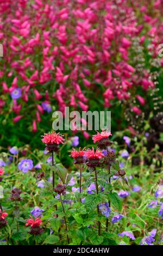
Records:
{"label": "red petals only of the upper-left bee balm bloom, without dark base", "polygon": [[63,135],[60,135],[60,133],[56,133],[55,131],[45,133],[45,135],[42,135],[43,139],[41,141],[45,144],[64,144],[65,139],[62,138]]}

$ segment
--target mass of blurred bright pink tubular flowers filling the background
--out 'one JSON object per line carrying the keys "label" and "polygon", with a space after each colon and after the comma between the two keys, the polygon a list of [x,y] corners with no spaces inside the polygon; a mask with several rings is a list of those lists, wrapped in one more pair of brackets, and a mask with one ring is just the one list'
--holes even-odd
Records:
{"label": "mass of blurred bright pink tubular flowers filling the background", "polygon": [[[0,108],[5,113],[12,101],[13,121],[26,115],[36,131],[41,115],[52,111],[52,103],[58,103],[62,112],[66,105],[85,111],[89,107],[85,92],[91,89],[110,107],[116,99],[130,101],[133,89],[136,102],[131,109],[139,114],[145,99],[138,92],[141,89],[143,95],[154,82],[146,65],[140,69],[130,58],[130,48],[137,41],[137,47],[149,47],[155,60],[162,42],[161,7],[162,1],[153,1],[150,10],[157,13],[153,15],[142,3],[131,5],[127,0],[2,2],[0,39],[5,58]],[[141,25],[137,9],[143,10]]]}

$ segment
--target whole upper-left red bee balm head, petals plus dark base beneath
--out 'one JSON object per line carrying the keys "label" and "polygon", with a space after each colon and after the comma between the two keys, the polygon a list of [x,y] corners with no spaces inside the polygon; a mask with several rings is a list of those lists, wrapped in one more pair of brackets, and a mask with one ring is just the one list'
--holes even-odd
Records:
{"label": "whole upper-left red bee balm head, petals plus dark base beneath", "polygon": [[65,141],[63,135],[60,135],[59,132],[56,133],[55,131],[45,133],[42,137],[43,139],[41,139],[41,141],[46,144],[48,150],[58,151],[58,145],[64,144]]}

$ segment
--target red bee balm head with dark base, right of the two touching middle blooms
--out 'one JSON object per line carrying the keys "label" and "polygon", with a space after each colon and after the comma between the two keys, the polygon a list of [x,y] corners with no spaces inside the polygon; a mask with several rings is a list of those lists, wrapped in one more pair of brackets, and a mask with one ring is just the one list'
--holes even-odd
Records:
{"label": "red bee balm head with dark base, right of the two touching middle blooms", "polygon": [[104,154],[102,153],[101,150],[99,150],[99,148],[95,149],[87,149],[85,151],[85,157],[86,157],[86,164],[89,167],[96,167],[100,164],[99,160],[104,157]]}

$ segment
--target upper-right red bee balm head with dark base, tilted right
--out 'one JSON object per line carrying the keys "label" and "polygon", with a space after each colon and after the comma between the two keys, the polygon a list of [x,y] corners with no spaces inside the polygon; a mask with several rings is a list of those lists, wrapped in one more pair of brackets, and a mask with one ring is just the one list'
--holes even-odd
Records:
{"label": "upper-right red bee balm head with dark base, tilted right", "polygon": [[112,136],[111,132],[105,130],[102,131],[101,133],[97,132],[96,135],[92,136],[93,142],[98,143],[99,148],[105,148],[112,143],[109,141],[109,136]]}

